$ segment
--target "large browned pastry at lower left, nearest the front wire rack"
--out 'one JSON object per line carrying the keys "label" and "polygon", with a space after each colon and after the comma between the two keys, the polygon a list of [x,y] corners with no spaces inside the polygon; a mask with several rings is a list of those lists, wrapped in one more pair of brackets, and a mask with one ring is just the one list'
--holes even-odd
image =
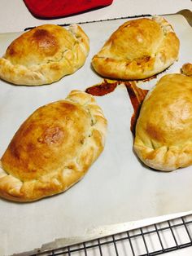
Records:
{"label": "large browned pastry at lower left, nearest the front wire rack", "polygon": [[36,201],[70,188],[103,151],[106,128],[94,97],[79,90],[38,108],[2,156],[0,196]]}

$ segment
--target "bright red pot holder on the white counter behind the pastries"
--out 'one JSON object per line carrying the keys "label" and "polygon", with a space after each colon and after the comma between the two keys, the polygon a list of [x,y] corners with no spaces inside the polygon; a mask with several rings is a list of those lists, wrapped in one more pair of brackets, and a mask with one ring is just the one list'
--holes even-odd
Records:
{"label": "bright red pot holder on the white counter behind the pastries", "polygon": [[24,0],[37,18],[53,19],[107,7],[113,0]]}

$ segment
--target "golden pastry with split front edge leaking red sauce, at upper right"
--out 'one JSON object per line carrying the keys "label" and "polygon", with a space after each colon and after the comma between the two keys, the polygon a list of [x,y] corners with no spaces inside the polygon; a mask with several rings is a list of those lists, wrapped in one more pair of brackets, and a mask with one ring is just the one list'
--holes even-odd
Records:
{"label": "golden pastry with split front edge leaking red sauce, at upper right", "polygon": [[173,64],[179,46],[176,33],[163,17],[129,20],[111,34],[92,65],[103,77],[143,79]]}

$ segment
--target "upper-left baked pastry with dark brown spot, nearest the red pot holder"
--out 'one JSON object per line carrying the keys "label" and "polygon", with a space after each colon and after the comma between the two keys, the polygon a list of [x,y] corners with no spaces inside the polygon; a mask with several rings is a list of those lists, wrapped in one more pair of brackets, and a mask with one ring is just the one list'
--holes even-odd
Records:
{"label": "upper-left baked pastry with dark brown spot, nearest the red pot holder", "polygon": [[16,38],[0,58],[0,78],[15,85],[58,81],[85,64],[89,38],[81,27],[45,24]]}

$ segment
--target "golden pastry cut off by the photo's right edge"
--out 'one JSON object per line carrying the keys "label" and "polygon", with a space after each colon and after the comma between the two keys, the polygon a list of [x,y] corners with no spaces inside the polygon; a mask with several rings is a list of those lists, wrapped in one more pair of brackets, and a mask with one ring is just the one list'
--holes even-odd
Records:
{"label": "golden pastry cut off by the photo's right edge", "polygon": [[168,74],[144,99],[137,119],[134,151],[156,170],[192,164],[192,77]]}

